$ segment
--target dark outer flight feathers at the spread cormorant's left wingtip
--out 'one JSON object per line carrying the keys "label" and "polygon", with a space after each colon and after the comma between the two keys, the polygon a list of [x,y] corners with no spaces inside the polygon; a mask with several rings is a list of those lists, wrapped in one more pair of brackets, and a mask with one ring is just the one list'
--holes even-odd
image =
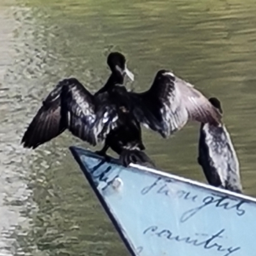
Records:
{"label": "dark outer flight feathers at the spread cormorant's left wingtip", "polygon": [[61,116],[61,82],[43,101],[21,143],[27,148],[36,148],[52,138],[55,138],[67,128],[65,116]]}

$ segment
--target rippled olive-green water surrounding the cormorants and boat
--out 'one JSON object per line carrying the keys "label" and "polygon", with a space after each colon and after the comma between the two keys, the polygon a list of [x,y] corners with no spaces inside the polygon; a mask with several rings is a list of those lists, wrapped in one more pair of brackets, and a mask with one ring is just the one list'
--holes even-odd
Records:
{"label": "rippled olive-green water surrounding the cormorants and boat", "polygon": [[[0,255],[127,255],[68,152],[84,144],[66,132],[34,152],[19,145],[59,79],[75,76],[92,92],[106,81],[111,50],[129,59],[136,81],[128,86],[138,91],[171,68],[220,97],[244,191],[256,196],[252,0],[19,0],[0,10]],[[143,138],[160,168],[205,182],[198,124],[170,140],[145,129]]]}

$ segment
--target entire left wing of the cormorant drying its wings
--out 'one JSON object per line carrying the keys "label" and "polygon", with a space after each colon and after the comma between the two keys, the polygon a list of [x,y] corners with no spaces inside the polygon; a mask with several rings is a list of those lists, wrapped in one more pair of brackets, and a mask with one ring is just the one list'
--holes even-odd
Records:
{"label": "entire left wing of the cormorant drying its wings", "polygon": [[[103,100],[104,97],[100,97]],[[95,97],[76,78],[60,81],[29,124],[22,138],[24,147],[36,148],[65,129],[91,145],[104,140],[115,124],[111,120],[116,113],[104,108],[104,105],[96,106],[96,102]],[[101,102],[98,100],[98,103]]]}

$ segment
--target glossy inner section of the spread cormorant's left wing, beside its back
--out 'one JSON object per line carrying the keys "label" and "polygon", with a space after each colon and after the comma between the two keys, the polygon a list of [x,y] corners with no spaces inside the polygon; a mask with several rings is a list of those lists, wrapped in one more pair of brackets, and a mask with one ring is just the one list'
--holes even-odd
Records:
{"label": "glossy inner section of the spread cormorant's left wing, beside its back", "polygon": [[66,85],[61,99],[68,113],[68,130],[94,146],[115,124],[116,112],[108,106],[108,92],[94,97],[77,79],[68,79]]}

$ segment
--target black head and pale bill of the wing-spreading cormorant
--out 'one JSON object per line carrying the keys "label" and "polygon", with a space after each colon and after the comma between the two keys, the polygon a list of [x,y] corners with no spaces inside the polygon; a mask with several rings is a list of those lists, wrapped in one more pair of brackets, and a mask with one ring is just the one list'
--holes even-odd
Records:
{"label": "black head and pale bill of the wing-spreading cormorant", "polygon": [[120,52],[111,52],[108,56],[108,65],[114,74],[122,77],[127,75],[131,81],[134,81],[134,74],[127,68],[125,56]]}

